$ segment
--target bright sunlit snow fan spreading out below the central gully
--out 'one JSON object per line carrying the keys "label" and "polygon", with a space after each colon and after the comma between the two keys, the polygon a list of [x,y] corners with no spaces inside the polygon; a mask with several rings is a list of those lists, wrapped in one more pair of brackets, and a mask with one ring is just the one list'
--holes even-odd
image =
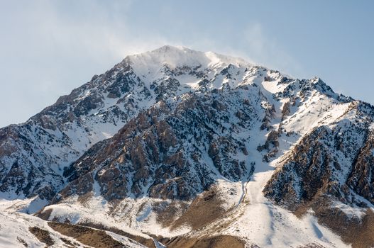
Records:
{"label": "bright sunlit snow fan spreading out below the central gully", "polygon": [[251,181],[246,182],[240,205],[233,208],[226,218],[214,223],[215,226],[229,223],[216,235],[236,235],[263,248],[275,244],[276,247],[297,247],[316,240],[324,247],[350,247],[341,242],[339,236],[319,225],[311,214],[299,219],[265,198],[263,188],[273,172],[257,172]]}

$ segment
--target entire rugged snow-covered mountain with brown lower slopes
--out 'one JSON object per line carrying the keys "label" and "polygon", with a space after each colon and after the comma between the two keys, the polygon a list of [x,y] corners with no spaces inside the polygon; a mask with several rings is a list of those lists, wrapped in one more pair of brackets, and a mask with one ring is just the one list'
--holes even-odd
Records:
{"label": "entire rugged snow-covered mountain with brown lower slopes", "polygon": [[186,47],[129,55],[0,129],[1,218],[28,233],[1,228],[0,244],[373,246],[373,118],[317,77]]}

